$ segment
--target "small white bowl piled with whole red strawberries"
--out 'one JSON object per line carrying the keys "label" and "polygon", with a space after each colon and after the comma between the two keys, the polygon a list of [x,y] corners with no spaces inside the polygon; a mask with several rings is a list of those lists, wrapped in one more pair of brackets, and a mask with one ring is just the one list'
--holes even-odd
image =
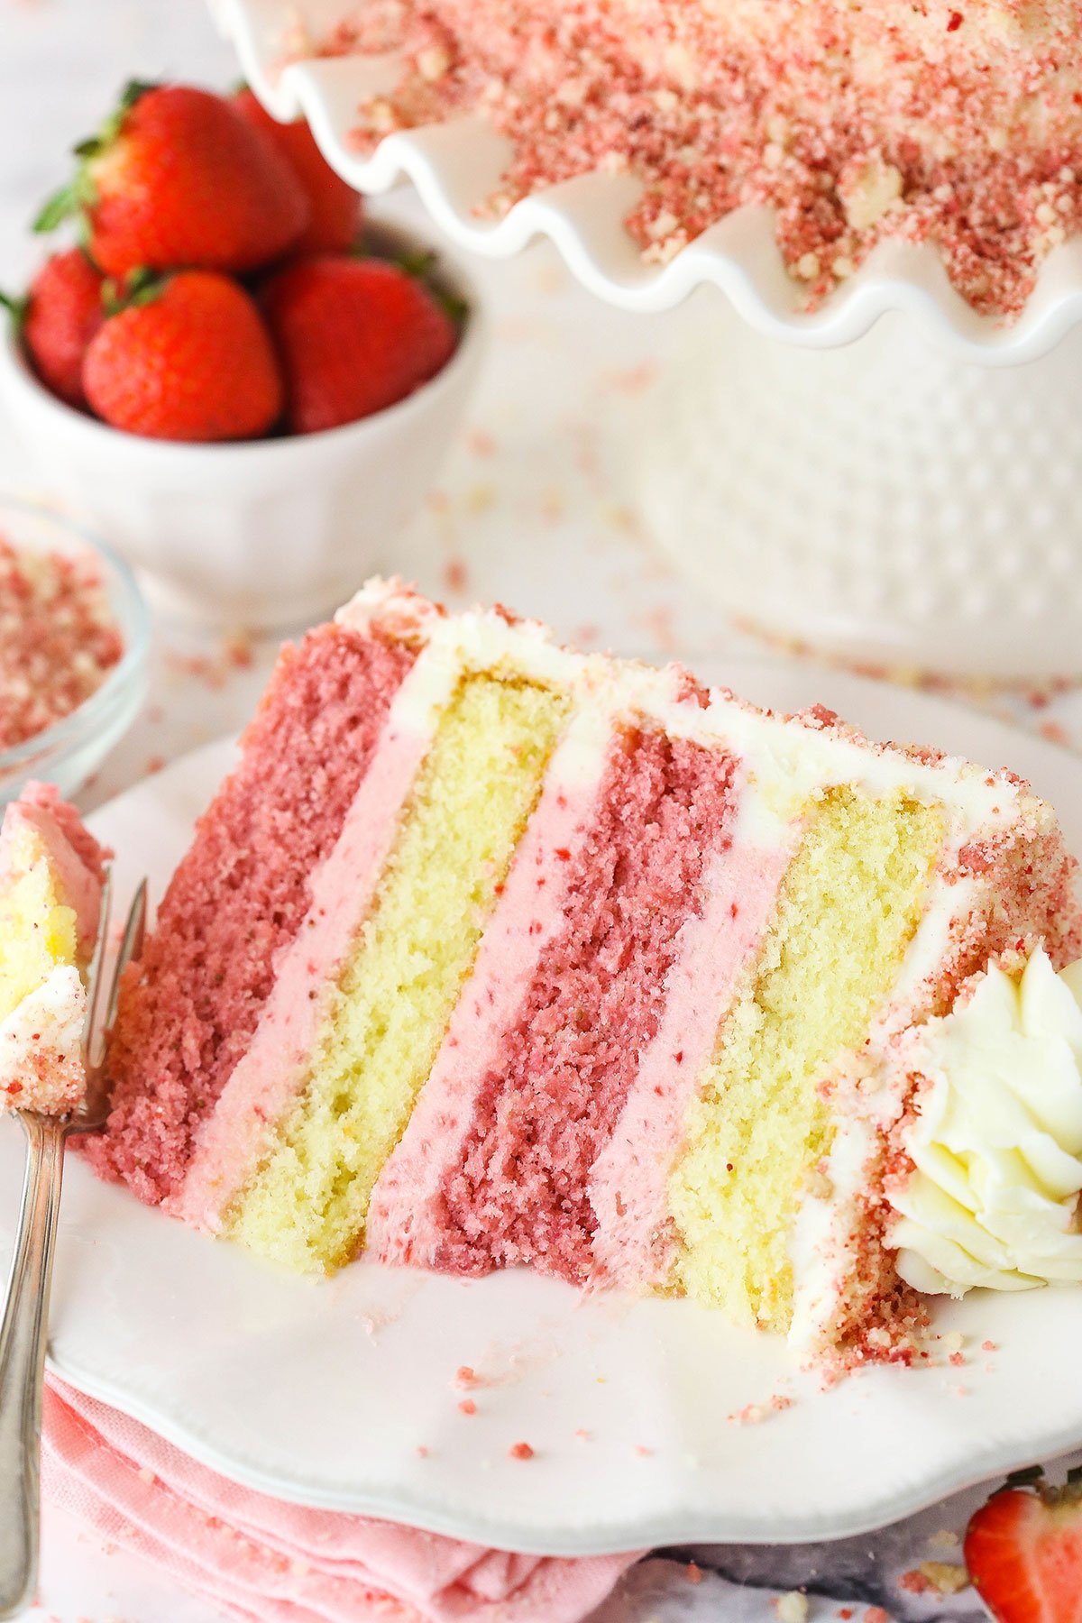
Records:
{"label": "small white bowl piled with whole red strawberries", "polygon": [[37,221],[0,396],[54,493],[167,609],[321,615],[432,489],[483,347],[466,273],[373,226],[307,125],[130,84]]}

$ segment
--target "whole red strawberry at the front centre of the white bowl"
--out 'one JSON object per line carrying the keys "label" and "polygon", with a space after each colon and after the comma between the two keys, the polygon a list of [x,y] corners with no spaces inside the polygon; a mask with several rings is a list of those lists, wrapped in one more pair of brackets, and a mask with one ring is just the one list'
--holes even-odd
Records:
{"label": "whole red strawberry at the front centre of the white bowl", "polygon": [[216,271],[136,286],[86,351],[83,385],[114,428],[154,440],[248,440],[282,411],[260,312]]}

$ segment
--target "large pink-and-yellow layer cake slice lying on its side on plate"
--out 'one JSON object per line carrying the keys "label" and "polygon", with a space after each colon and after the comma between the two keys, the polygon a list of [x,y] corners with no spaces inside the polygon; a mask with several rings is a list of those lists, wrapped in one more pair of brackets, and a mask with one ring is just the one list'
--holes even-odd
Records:
{"label": "large pink-and-yellow layer cake slice lying on its side on plate", "polygon": [[878,1057],[1077,956],[1072,867],[1007,773],[375,581],[282,656],[89,1154],[294,1269],[529,1264],[902,1357]]}

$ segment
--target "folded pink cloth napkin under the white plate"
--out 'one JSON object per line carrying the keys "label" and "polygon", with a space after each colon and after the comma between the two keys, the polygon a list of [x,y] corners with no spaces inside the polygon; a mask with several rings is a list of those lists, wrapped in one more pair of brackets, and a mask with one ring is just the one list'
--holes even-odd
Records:
{"label": "folded pink cloth napkin under the white plate", "polygon": [[581,1623],[634,1555],[511,1555],[242,1488],[45,1383],[42,1492],[245,1623]]}

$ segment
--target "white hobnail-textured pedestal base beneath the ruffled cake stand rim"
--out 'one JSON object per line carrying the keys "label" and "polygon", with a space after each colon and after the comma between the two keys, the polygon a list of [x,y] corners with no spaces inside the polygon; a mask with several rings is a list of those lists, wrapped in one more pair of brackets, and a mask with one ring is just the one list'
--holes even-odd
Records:
{"label": "white hobnail-textured pedestal base beneath the ruffled cake stand rim", "polygon": [[813,352],[696,304],[636,461],[730,615],[889,670],[1082,672],[1077,328],[988,368],[899,313]]}

